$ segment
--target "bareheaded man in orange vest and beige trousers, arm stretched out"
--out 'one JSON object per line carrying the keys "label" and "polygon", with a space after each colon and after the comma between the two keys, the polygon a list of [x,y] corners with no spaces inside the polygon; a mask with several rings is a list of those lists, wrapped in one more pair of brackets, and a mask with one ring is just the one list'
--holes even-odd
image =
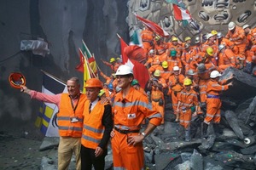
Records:
{"label": "bareheaded man in orange vest and beige trousers, arm stretched out", "polygon": [[58,106],[58,126],[60,143],[58,147],[58,169],[68,168],[73,152],[76,159],[76,170],[81,169],[81,136],[83,129],[83,111],[85,94],[80,93],[79,78],[72,77],[67,80],[68,94],[43,94],[26,86],[21,86],[20,91],[29,94],[32,99],[53,103]]}

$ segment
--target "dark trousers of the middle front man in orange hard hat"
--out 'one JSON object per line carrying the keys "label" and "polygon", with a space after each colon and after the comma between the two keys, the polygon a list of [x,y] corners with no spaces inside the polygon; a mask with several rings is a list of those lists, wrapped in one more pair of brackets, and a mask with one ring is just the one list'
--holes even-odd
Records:
{"label": "dark trousers of the middle front man in orange hard hat", "polygon": [[105,156],[107,150],[104,150],[102,156],[95,156],[95,150],[81,145],[81,170],[91,170],[93,165],[95,170],[104,170]]}

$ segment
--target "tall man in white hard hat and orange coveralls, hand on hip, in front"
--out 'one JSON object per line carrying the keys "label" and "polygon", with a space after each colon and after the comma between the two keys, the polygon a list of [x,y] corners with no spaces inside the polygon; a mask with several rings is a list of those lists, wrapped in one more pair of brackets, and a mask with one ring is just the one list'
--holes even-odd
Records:
{"label": "tall man in white hard hat and orange coveralls, hand on hip, in front", "polygon": [[[160,125],[162,117],[152,110],[147,96],[131,87],[133,71],[130,66],[120,65],[116,77],[122,90],[113,100],[113,169],[144,169],[143,139]],[[145,117],[149,119],[148,127],[140,133]]]}

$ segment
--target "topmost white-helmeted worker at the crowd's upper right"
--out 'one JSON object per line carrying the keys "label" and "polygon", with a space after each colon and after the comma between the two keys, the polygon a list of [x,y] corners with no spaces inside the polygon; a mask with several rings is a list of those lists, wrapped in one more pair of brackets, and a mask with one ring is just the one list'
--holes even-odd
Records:
{"label": "topmost white-helmeted worker at the crowd's upper right", "polygon": [[226,38],[230,39],[231,42],[235,42],[238,52],[234,51],[234,53],[237,53],[236,55],[239,56],[239,60],[242,63],[245,60],[245,50],[247,46],[247,37],[245,35],[245,31],[240,26],[236,26],[235,22],[230,22],[229,31]]}

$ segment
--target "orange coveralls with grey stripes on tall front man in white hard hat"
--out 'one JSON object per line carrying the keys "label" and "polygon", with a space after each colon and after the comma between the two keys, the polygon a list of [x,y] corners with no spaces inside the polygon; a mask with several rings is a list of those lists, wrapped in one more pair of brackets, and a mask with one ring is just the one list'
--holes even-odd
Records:
{"label": "orange coveralls with grey stripes on tall front man in white hard hat", "polygon": [[122,91],[116,94],[112,111],[114,127],[123,130],[115,130],[111,139],[113,169],[144,169],[143,143],[128,145],[127,139],[129,136],[139,133],[141,124],[146,117],[149,119],[149,123],[159,126],[162,121],[160,113],[154,111],[147,96],[142,95],[135,88],[130,88],[125,98]]}

